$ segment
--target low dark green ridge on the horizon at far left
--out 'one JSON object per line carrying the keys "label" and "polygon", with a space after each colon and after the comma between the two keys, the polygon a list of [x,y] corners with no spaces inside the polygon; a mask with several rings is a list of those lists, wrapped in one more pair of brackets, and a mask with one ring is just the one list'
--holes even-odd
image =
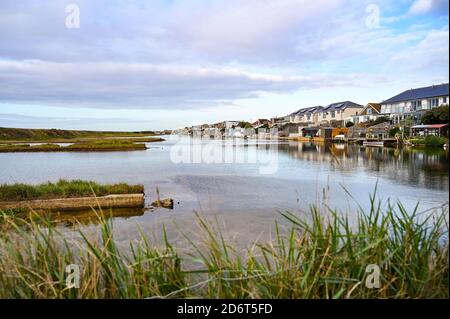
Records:
{"label": "low dark green ridge on the horizon at far left", "polygon": [[26,129],[0,127],[0,140],[47,140],[73,139],[108,136],[152,135],[152,131],[142,132],[111,132],[111,131],[76,131],[58,129]]}

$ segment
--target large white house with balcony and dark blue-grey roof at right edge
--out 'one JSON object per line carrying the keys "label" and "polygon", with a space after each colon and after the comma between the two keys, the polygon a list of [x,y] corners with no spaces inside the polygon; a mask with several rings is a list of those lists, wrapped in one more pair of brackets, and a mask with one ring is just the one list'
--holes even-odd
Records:
{"label": "large white house with balcony and dark blue-grey roof at right edge", "polygon": [[407,118],[417,124],[423,113],[441,105],[448,105],[448,99],[448,83],[410,89],[383,101],[380,112],[389,114],[393,124]]}

